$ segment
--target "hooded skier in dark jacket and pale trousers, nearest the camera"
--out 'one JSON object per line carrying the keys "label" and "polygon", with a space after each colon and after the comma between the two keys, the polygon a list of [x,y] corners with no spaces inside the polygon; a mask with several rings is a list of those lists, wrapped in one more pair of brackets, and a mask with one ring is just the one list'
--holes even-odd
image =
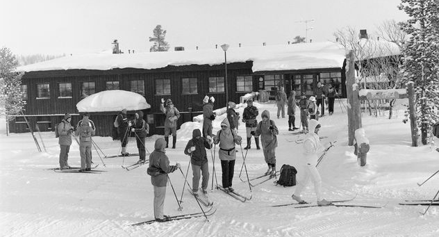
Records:
{"label": "hooded skier in dark jacket and pale trousers, nearest the camera", "polygon": [[154,186],[154,217],[158,222],[169,220],[169,216],[163,215],[168,174],[181,167],[179,163],[169,165],[169,158],[165,154],[165,146],[165,139],[158,138],[156,140],[154,152],[149,155],[149,167],[147,169],[147,174],[151,176],[151,184]]}

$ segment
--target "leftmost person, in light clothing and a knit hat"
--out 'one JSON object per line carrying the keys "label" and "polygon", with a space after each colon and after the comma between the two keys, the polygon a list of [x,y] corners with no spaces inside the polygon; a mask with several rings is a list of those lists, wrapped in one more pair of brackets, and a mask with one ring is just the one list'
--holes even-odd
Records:
{"label": "leftmost person, in light clothing and a knit hat", "polygon": [[63,121],[61,121],[59,124],[56,124],[59,136],[58,144],[60,145],[59,162],[61,170],[70,168],[67,160],[69,159],[70,145],[72,145],[72,132],[74,131],[72,124],[70,124],[71,121],[72,115],[66,113]]}

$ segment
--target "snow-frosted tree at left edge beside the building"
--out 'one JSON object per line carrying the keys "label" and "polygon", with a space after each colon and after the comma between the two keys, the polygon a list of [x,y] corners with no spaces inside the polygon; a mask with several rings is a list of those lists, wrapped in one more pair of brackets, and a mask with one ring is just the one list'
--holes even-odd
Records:
{"label": "snow-frosted tree at left edge beside the building", "polygon": [[15,72],[18,63],[8,48],[0,49],[0,115],[6,117],[8,124],[21,113],[26,101],[22,99],[22,74]]}

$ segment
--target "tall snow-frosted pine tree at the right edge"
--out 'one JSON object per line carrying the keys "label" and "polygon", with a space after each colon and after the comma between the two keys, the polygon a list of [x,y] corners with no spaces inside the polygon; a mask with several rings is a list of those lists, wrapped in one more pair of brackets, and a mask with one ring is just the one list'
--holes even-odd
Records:
{"label": "tall snow-frosted pine tree at the right edge", "polygon": [[404,84],[413,81],[416,92],[417,126],[426,145],[431,125],[439,121],[439,1],[401,0],[399,10],[410,17],[401,24],[409,35],[403,44]]}

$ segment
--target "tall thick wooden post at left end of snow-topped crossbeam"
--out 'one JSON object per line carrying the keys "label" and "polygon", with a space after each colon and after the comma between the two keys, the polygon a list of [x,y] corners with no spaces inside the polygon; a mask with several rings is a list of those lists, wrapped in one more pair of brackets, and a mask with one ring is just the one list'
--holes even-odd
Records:
{"label": "tall thick wooden post at left end of snow-topped crossbeam", "polygon": [[354,51],[346,55],[346,92],[347,92],[347,127],[348,145],[354,145],[355,130],[361,128],[360,98],[358,84],[355,80]]}

